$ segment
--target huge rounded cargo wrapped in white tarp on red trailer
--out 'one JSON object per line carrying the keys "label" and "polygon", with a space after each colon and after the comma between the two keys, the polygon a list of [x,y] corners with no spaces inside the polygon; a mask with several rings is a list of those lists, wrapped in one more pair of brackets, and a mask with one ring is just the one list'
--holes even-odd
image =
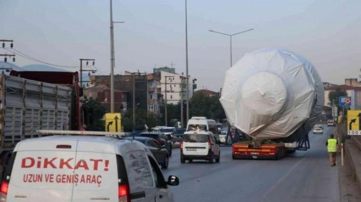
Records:
{"label": "huge rounded cargo wrapped in white tarp on red trailer", "polygon": [[323,84],[304,57],[282,49],[245,54],[226,71],[220,98],[231,125],[254,139],[308,132],[322,112]]}

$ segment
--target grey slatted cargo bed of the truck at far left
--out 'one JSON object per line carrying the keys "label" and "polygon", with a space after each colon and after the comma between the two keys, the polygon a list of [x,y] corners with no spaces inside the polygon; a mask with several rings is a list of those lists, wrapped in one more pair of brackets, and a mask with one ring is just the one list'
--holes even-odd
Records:
{"label": "grey slatted cargo bed of the truck at far left", "polygon": [[0,149],[12,150],[36,130],[68,130],[71,88],[0,75]]}

